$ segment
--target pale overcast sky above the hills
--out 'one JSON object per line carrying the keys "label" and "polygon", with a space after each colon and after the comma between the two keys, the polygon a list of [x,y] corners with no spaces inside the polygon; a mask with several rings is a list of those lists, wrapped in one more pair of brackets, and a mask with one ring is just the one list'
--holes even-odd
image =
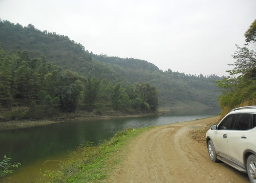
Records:
{"label": "pale overcast sky above the hills", "polygon": [[94,54],[226,76],[256,0],[0,0],[0,18],[68,36]]}

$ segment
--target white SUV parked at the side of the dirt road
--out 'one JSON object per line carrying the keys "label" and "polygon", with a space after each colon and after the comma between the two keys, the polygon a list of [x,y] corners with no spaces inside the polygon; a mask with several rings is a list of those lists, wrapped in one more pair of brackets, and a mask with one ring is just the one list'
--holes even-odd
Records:
{"label": "white SUV parked at the side of the dirt road", "polygon": [[218,125],[211,125],[206,144],[211,161],[248,173],[256,183],[256,106],[233,109]]}

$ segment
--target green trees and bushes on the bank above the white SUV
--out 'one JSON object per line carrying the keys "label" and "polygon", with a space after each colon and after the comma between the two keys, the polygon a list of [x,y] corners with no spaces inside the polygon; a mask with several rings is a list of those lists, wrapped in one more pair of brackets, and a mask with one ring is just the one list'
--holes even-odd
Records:
{"label": "green trees and bushes on the bank above the white SUV", "polygon": [[[246,32],[246,42],[255,42],[255,22]],[[236,45],[237,46],[237,45]],[[217,85],[221,88],[220,106],[224,116],[228,110],[244,105],[256,105],[256,52],[248,46],[239,47],[232,57],[236,60],[229,76]]]}

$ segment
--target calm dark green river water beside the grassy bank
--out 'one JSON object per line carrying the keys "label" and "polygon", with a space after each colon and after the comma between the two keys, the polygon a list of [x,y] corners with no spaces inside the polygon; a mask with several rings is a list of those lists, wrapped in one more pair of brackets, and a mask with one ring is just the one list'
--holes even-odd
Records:
{"label": "calm dark green river water beside the grassy bank", "polygon": [[[97,144],[101,140],[109,139],[113,134],[123,129],[192,121],[217,115],[219,112],[220,109],[218,108],[183,109],[172,110],[164,115],[63,122],[44,126],[1,130],[0,159],[7,155],[7,157],[12,158],[13,163],[21,163],[22,165],[15,174],[22,172],[19,174],[24,175],[25,171],[32,171],[30,168],[38,172],[40,171],[39,167],[42,168],[46,164],[53,166],[62,157],[67,157],[68,152],[74,150],[85,141]],[[48,161],[49,159],[57,161]],[[58,164],[54,166],[58,166]],[[9,179],[8,182],[13,180]],[[17,179],[15,182],[17,182]]]}

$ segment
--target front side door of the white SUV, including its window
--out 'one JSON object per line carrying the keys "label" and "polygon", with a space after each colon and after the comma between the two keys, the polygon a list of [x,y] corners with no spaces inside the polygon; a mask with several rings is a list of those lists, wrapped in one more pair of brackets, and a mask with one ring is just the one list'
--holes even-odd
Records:
{"label": "front side door of the white SUV, including its window", "polygon": [[229,147],[228,147],[228,133],[232,127],[235,115],[231,114],[226,116],[220,124],[218,124],[217,130],[214,134],[213,144],[216,150],[216,153],[228,160],[231,161],[229,157]]}

